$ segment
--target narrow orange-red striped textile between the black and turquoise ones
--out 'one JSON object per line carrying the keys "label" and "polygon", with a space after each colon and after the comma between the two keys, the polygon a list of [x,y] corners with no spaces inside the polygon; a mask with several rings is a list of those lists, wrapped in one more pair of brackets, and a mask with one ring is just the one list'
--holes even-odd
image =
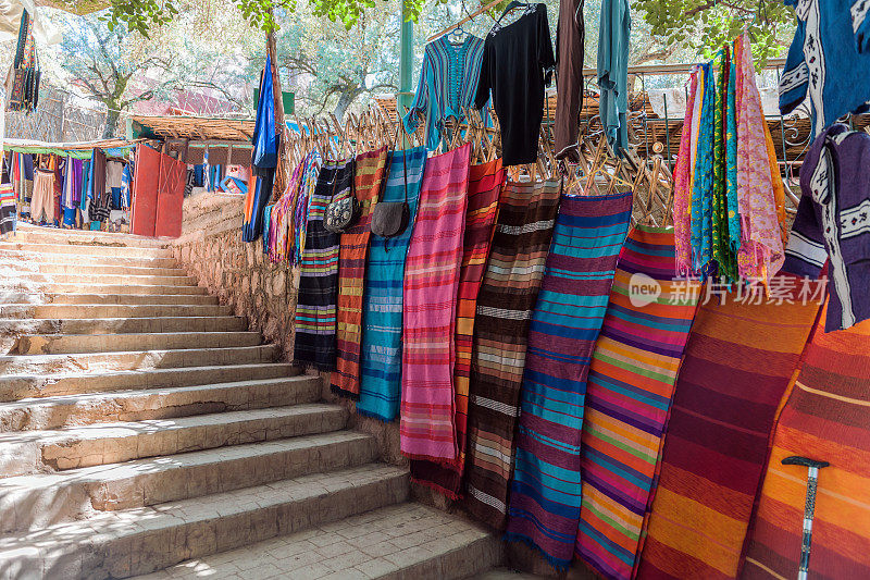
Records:
{"label": "narrow orange-red striped textile between the black and turquoise ones", "polygon": [[338,318],[332,391],[355,399],[360,397],[365,258],[369,256],[369,238],[372,236],[372,209],[381,194],[386,162],[386,147],[357,156],[353,195],[360,202],[360,215],[357,223],[341,234],[341,249],[338,256]]}

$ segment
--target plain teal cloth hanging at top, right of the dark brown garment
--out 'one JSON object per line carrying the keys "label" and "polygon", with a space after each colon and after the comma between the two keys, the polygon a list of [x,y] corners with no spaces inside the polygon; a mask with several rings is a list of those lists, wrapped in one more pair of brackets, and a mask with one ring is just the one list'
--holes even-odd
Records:
{"label": "plain teal cloth hanging at top, right of the dark brown garment", "polygon": [[598,115],[613,152],[629,147],[629,37],[632,16],[627,0],[604,0],[598,28]]}

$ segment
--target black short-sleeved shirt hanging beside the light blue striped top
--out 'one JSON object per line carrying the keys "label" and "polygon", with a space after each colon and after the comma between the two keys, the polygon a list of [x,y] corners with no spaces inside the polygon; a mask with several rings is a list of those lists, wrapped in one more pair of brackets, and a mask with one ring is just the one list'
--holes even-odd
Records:
{"label": "black short-sleeved shirt hanging beside the light blue striped top", "polygon": [[497,22],[486,35],[474,106],[483,108],[493,90],[505,165],[537,160],[544,87],[550,83],[554,66],[544,4],[530,4],[518,20],[505,25]]}

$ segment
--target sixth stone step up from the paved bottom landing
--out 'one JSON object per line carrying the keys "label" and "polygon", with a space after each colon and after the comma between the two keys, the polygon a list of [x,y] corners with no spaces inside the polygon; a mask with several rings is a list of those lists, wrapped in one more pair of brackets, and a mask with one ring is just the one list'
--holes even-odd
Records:
{"label": "sixth stone step up from the paved bottom landing", "polygon": [[211,365],[244,365],[274,362],[277,355],[278,349],[275,345],[84,353],[76,355],[3,355],[0,356],[0,374],[48,374],[76,370],[98,373],[110,370],[128,371]]}

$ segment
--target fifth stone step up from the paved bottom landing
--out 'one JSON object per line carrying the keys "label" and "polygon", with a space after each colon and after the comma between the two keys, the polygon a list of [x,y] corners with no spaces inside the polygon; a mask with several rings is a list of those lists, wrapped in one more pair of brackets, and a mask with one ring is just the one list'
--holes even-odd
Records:
{"label": "fifth stone step up from the paved bottom landing", "polygon": [[287,362],[146,369],[91,373],[7,374],[0,377],[0,403],[22,398],[61,397],[108,391],[169,388],[231,381],[286,379],[299,374]]}

